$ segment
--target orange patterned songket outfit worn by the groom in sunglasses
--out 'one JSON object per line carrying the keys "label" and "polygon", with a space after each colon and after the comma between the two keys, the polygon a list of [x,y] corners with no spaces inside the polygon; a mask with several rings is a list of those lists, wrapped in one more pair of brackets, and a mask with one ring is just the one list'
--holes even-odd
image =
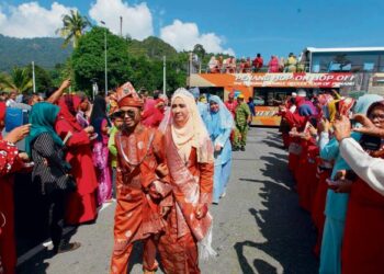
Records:
{"label": "orange patterned songket outfit worn by the groom in sunglasses", "polygon": [[[156,168],[165,159],[162,135],[142,125],[131,135],[117,133],[116,210],[114,225],[114,250],[111,273],[126,274],[133,244],[144,240],[144,263],[147,271],[156,271],[156,246],[158,235],[166,221],[160,212],[172,204],[168,195],[167,178],[159,178]],[[161,180],[161,182],[160,182]],[[157,181],[162,201],[154,201],[147,187]]]}

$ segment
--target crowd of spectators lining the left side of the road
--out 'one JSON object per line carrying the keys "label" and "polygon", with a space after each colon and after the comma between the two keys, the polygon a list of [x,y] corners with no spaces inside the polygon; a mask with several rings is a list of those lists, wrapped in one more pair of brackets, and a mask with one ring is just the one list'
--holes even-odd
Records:
{"label": "crowd of spectators lining the left side of the road", "polygon": [[[47,238],[54,254],[78,249],[64,227],[95,221],[116,196],[116,91],[92,100],[65,93],[69,87],[65,80],[45,94],[0,93],[1,274],[15,273],[16,239],[21,250]],[[166,100],[158,91],[140,95],[143,123],[158,126]]]}

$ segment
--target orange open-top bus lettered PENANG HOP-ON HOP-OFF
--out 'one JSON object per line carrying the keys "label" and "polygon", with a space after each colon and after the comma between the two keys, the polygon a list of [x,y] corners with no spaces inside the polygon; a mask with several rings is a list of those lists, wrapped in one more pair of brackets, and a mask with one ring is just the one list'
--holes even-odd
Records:
{"label": "orange open-top bus lettered PENANG HOP-ON HOP-OFF", "polygon": [[[312,52],[308,54],[309,49]],[[281,118],[275,115],[279,102],[284,101],[297,89],[305,89],[309,94],[313,91],[335,89],[341,95],[384,95],[384,47],[379,48],[379,52],[377,48],[374,48],[376,52],[361,52],[359,48],[355,50],[359,55],[350,53],[351,48],[348,53],[340,48],[336,52],[315,49],[306,48],[303,53],[307,64],[304,67],[308,72],[191,73],[188,85],[199,87],[201,93],[216,94],[223,100],[227,100],[228,93],[233,91],[241,92],[246,101],[252,98],[256,104],[252,125],[258,126],[279,126]],[[330,58],[331,53],[335,56]],[[324,54],[326,56],[323,56]],[[364,54],[368,59],[361,57]],[[358,56],[361,64],[358,66],[350,56]],[[323,61],[326,58],[327,64]],[[313,68],[316,72],[310,72]]]}

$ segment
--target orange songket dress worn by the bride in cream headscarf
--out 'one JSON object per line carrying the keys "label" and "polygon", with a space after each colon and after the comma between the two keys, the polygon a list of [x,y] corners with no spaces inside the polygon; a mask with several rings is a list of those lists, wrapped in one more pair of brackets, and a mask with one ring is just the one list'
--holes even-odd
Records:
{"label": "orange songket dress worn by the bride in cream headscarf", "polygon": [[[212,150],[207,144],[206,149]],[[199,204],[210,205],[213,192],[213,162],[197,162],[193,147],[185,163],[181,160],[170,130],[166,134],[167,161],[171,174],[174,206],[167,216],[166,233],[159,239],[158,250],[166,273],[199,274],[197,242],[211,232],[210,213],[197,219],[195,208]]]}

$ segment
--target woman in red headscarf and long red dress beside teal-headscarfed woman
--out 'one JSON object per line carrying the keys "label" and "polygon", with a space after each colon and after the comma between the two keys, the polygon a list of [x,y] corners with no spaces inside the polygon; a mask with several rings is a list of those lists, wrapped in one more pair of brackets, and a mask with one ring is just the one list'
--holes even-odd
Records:
{"label": "woman in red headscarf and long red dress beside teal-headscarfed woman", "polygon": [[71,137],[66,142],[66,160],[71,165],[71,175],[76,179],[77,191],[69,194],[66,208],[66,224],[79,225],[97,218],[98,181],[92,162],[90,134],[93,127],[82,128],[76,119],[81,99],[77,95],[65,95],[58,105],[60,113],[56,122],[56,132],[65,139],[68,133]]}

